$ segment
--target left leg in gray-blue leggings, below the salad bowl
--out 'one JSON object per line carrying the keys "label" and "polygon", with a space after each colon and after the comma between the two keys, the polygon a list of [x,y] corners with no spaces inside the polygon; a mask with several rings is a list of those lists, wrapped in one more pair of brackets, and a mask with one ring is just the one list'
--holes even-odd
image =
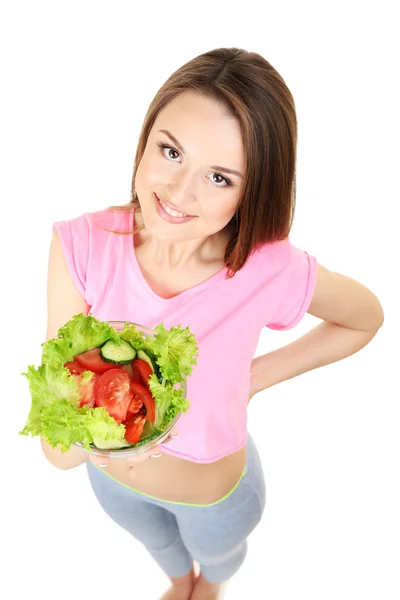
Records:
{"label": "left leg in gray-blue leggings, below the salad bowl", "polygon": [[175,516],[114,481],[90,461],[87,471],[97,500],[111,519],[146,547],[173,583],[186,575],[189,579],[193,560],[182,542]]}

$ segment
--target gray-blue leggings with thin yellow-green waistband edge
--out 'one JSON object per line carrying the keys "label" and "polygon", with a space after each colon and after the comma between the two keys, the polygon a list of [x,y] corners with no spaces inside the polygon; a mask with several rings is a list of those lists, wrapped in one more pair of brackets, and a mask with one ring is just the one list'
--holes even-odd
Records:
{"label": "gray-blue leggings with thin yellow-green waistband edge", "polygon": [[247,434],[246,468],[222,500],[205,506],[147,496],[120,484],[87,461],[94,493],[103,509],[144,544],[169,577],[188,573],[193,560],[211,583],[222,583],[242,565],[247,537],[265,506],[265,483],[257,448]]}

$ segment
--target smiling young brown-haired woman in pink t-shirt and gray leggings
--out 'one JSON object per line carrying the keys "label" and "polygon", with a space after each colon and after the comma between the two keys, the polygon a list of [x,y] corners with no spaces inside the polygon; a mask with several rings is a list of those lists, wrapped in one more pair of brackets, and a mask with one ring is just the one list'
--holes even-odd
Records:
{"label": "smiling young brown-haired woman in pink t-shirt and gray leggings", "polygon": [[[371,291],[289,241],[296,144],[294,101],[277,71],[256,53],[207,52],[152,101],[129,204],[53,227],[47,339],[90,312],[182,323],[199,344],[191,408],[160,447],[99,462],[42,440],[55,466],[86,463],[105,511],[171,579],[163,600],[216,599],[245,559],[265,505],[247,433],[252,396],[357,352],[383,322]],[[253,359],[263,327],[292,328],[306,312],[322,322]]]}

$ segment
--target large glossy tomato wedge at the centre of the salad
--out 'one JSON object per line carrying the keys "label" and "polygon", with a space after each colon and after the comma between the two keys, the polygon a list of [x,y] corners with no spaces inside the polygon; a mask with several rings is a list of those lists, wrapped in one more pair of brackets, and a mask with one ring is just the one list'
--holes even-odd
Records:
{"label": "large glossy tomato wedge at the centre of the salad", "polygon": [[96,381],[94,395],[96,405],[104,406],[116,421],[122,423],[132,401],[128,373],[121,369],[106,371]]}

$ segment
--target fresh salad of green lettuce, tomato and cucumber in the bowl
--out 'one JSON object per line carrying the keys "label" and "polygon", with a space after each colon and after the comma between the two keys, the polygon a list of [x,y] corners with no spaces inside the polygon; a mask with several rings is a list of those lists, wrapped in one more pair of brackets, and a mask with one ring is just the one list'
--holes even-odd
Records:
{"label": "fresh salad of green lettuce, tomato and cucumber in the bowl", "polygon": [[190,402],[186,376],[197,364],[189,328],[153,337],[125,323],[117,331],[92,315],[75,315],[42,344],[42,364],[22,373],[31,408],[21,435],[41,436],[66,452],[73,444],[90,451],[142,445],[160,435]]}

